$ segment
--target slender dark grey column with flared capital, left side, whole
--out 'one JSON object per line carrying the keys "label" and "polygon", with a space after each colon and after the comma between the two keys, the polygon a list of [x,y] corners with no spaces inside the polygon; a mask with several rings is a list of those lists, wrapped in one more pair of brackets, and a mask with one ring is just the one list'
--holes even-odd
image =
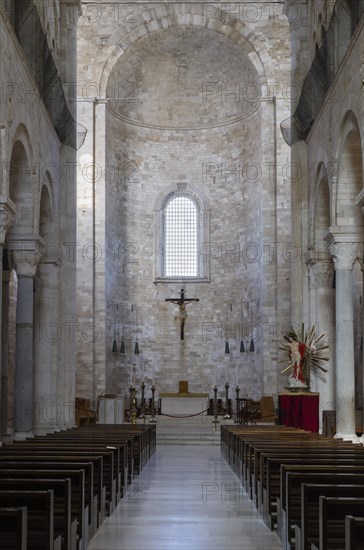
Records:
{"label": "slender dark grey column with flared capital, left side, whole", "polygon": [[14,392],[14,438],[33,435],[34,425],[34,276],[40,257],[40,239],[8,241],[18,276]]}

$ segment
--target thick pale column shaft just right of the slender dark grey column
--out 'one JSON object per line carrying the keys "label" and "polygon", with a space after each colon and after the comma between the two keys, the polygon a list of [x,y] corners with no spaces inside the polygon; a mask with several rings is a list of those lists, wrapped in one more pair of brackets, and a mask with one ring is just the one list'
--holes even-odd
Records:
{"label": "thick pale column shaft just right of the slender dark grey column", "polygon": [[34,434],[54,432],[61,417],[57,403],[58,271],[55,262],[41,261],[36,277],[34,340]]}

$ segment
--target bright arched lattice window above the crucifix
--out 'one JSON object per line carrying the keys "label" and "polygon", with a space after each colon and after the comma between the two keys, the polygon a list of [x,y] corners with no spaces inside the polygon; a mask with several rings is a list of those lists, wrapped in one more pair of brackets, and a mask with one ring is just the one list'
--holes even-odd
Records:
{"label": "bright arched lattice window above the crucifix", "polygon": [[[205,202],[205,201],[204,201]],[[157,208],[156,280],[208,278],[203,243],[208,240],[208,212],[192,190],[181,186],[160,198]]]}

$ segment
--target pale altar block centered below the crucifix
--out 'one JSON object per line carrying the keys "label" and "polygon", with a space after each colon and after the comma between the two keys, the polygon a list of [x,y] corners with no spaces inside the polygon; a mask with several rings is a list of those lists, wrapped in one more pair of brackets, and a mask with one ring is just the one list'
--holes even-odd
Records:
{"label": "pale altar block centered below the crucifix", "polygon": [[161,413],[171,415],[207,414],[208,393],[160,393]]}

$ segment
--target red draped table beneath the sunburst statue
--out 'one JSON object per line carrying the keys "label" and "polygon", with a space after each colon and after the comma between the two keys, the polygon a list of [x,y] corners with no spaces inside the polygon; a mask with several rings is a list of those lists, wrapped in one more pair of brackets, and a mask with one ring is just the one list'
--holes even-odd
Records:
{"label": "red draped table beneath the sunburst statue", "polygon": [[308,432],[319,430],[319,394],[281,392],[278,395],[279,423]]}

